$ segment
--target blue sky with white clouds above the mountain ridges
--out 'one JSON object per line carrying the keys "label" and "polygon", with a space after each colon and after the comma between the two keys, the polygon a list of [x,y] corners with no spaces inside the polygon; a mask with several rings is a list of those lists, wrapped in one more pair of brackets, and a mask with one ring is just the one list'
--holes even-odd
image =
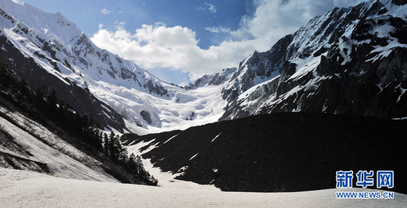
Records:
{"label": "blue sky with white clouds above the mountain ridges", "polygon": [[[13,0],[22,3],[22,0]],[[95,42],[177,84],[237,67],[312,17],[361,0],[25,0],[61,12]]]}

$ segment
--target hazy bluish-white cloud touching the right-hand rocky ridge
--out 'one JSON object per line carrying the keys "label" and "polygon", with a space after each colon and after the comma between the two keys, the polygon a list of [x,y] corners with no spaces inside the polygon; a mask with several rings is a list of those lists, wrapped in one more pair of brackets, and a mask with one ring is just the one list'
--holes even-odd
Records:
{"label": "hazy bluish-white cloud touching the right-hand rocky ridge", "polygon": [[354,6],[364,0],[258,0],[253,17],[242,17],[240,29],[232,31],[234,38],[253,37],[257,51],[269,49],[284,35],[294,33],[317,15],[335,7]]}

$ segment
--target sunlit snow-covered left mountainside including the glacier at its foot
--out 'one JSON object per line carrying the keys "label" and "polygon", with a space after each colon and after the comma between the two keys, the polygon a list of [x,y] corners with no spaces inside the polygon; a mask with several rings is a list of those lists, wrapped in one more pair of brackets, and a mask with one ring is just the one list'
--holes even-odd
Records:
{"label": "sunlit snow-covered left mountainside including the glacier at its foot", "polygon": [[30,85],[56,89],[105,128],[144,134],[214,122],[223,113],[218,87],[185,90],[163,81],[96,47],[61,13],[10,0],[0,6],[3,61]]}

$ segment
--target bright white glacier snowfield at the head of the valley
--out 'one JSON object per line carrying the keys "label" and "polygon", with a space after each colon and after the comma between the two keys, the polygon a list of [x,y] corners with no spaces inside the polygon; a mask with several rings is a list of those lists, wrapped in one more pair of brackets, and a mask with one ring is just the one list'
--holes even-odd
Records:
{"label": "bright white glacier snowfield at the head of the valley", "polygon": [[[168,89],[168,99],[141,92],[135,88],[115,86],[98,81],[89,86],[90,91],[104,100],[118,112],[125,109],[129,114],[129,129],[138,134],[147,132],[186,129],[191,126],[216,122],[227,104],[221,98],[222,86],[204,86],[194,90],[184,90],[177,86],[161,83]],[[147,111],[152,123],[137,127],[136,113]]]}

